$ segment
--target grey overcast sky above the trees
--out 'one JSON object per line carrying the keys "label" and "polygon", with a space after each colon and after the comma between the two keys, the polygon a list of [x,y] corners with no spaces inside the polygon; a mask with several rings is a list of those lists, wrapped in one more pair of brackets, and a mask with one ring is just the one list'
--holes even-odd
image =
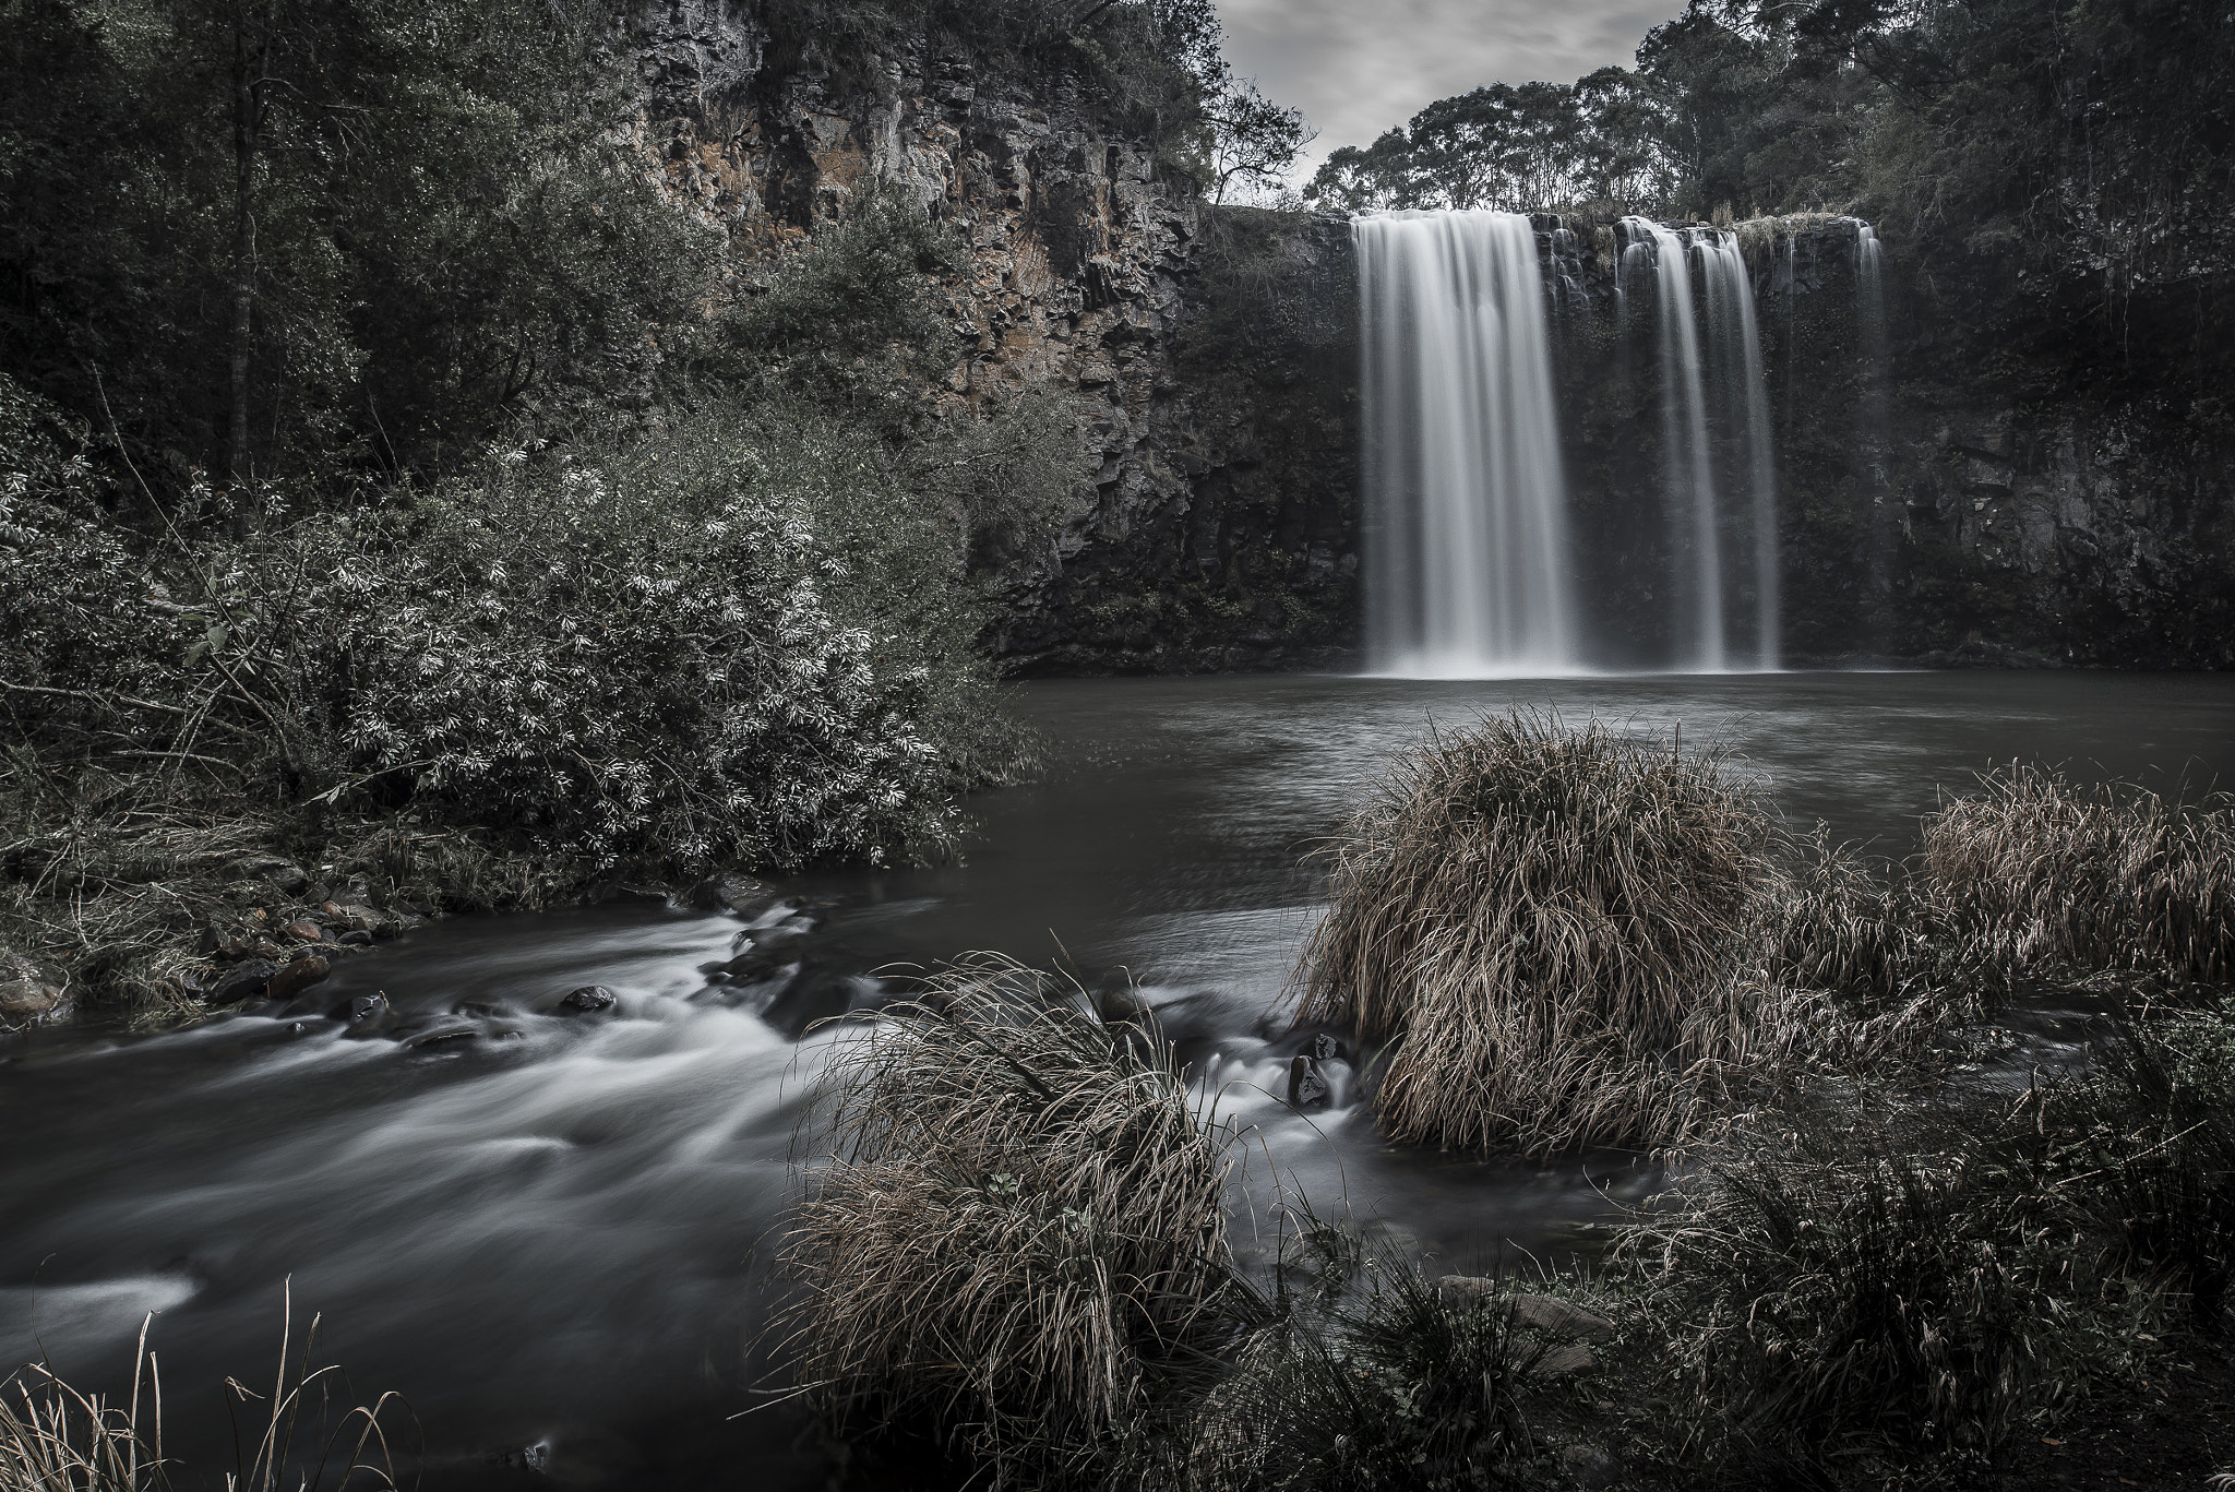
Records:
{"label": "grey overcast sky above the trees", "polygon": [[1319,139],[1301,179],[1421,105],[1484,83],[1573,83],[1636,63],[1683,0],[1216,0],[1227,60]]}

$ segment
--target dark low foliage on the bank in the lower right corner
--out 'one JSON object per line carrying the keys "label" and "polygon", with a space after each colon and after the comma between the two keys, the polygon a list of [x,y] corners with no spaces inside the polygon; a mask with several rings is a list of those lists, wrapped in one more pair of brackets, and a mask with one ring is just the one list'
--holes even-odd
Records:
{"label": "dark low foliage on the bank in the lower right corner", "polygon": [[[2224,1016],[2146,1018],[2105,1060],[1991,1092],[1815,1089],[1625,1224],[1687,1454],[1822,1481],[1980,1467],[2020,1425],[2217,1335],[2235,1284]],[[1875,1467],[1875,1470],[1871,1470]]]}

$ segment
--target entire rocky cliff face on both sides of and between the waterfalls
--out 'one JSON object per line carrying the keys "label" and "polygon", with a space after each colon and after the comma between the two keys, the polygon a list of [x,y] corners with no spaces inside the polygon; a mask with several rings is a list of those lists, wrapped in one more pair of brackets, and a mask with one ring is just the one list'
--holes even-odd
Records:
{"label": "entire rocky cliff face on both sides of and between the waterfalls", "polygon": [[[834,76],[722,0],[641,11],[630,47],[646,148],[738,275],[769,273],[867,190],[907,192],[968,244],[968,353],[948,398],[1077,400],[1088,497],[1012,577],[997,655],[1021,673],[1350,655],[1359,409],[1341,219],[1205,208],[1062,81],[966,56],[916,47]],[[1618,313],[1616,219],[1538,226],[1596,624],[1652,662],[1672,555],[1649,322]],[[2074,394],[2085,378],[2054,340],[1951,351],[1947,329],[1909,313],[1915,266],[1898,248],[1880,356],[1857,228],[1739,224],[1777,427],[1788,658],[2235,667],[2235,432],[2195,400]]]}

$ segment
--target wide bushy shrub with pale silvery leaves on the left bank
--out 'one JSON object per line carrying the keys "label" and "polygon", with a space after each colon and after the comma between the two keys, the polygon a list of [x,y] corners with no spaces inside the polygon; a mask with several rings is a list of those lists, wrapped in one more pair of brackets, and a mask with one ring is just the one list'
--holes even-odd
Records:
{"label": "wide bushy shrub with pale silvery leaves on the left bank", "polygon": [[0,434],[36,582],[0,689],[42,749],[679,872],[943,852],[1012,758],[970,514],[843,427],[711,409],[201,541],[136,539],[83,459]]}

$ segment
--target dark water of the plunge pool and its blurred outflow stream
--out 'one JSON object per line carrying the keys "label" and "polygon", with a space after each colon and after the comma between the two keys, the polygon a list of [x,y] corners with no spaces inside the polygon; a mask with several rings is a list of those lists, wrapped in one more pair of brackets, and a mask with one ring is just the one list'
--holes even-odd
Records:
{"label": "dark water of the plunge pool and its blurred outflow stream", "polygon": [[[1249,1127],[1245,1244],[1278,1170],[1455,1268],[1509,1241],[1558,1248],[1645,1177],[1623,1156],[1587,1172],[1395,1150],[1343,1103],[1303,1118],[1278,1101],[1294,1042],[1276,1011],[1316,915],[1305,857],[1430,720],[1509,705],[1721,738],[1784,812],[1891,854],[1996,761],[2204,783],[2235,740],[2235,684],[2217,678],[1033,684],[1046,778],[979,805],[961,866],[802,881],[831,901],[818,957],[860,971],[1062,948],[1088,978],[1129,971],[1207,1101]],[[360,1389],[405,1391],[458,1481],[545,1443],[577,1485],[820,1483],[791,1423],[724,1418],[746,1403],[749,1277],[791,1197],[818,1069],[814,1038],[708,982],[740,931],[644,906],[465,919],[331,986],[405,1013],[507,1011],[478,1042],[226,1018],[0,1049],[0,1356],[31,1356],[36,1329],[65,1373],[121,1378],[141,1315],[161,1311],[174,1449],[226,1463],[206,1385],[264,1369],[293,1277],[324,1349]],[[619,995],[610,1013],[550,1013],[588,982]],[[2054,1045],[2052,1013],[2032,1024]]]}

